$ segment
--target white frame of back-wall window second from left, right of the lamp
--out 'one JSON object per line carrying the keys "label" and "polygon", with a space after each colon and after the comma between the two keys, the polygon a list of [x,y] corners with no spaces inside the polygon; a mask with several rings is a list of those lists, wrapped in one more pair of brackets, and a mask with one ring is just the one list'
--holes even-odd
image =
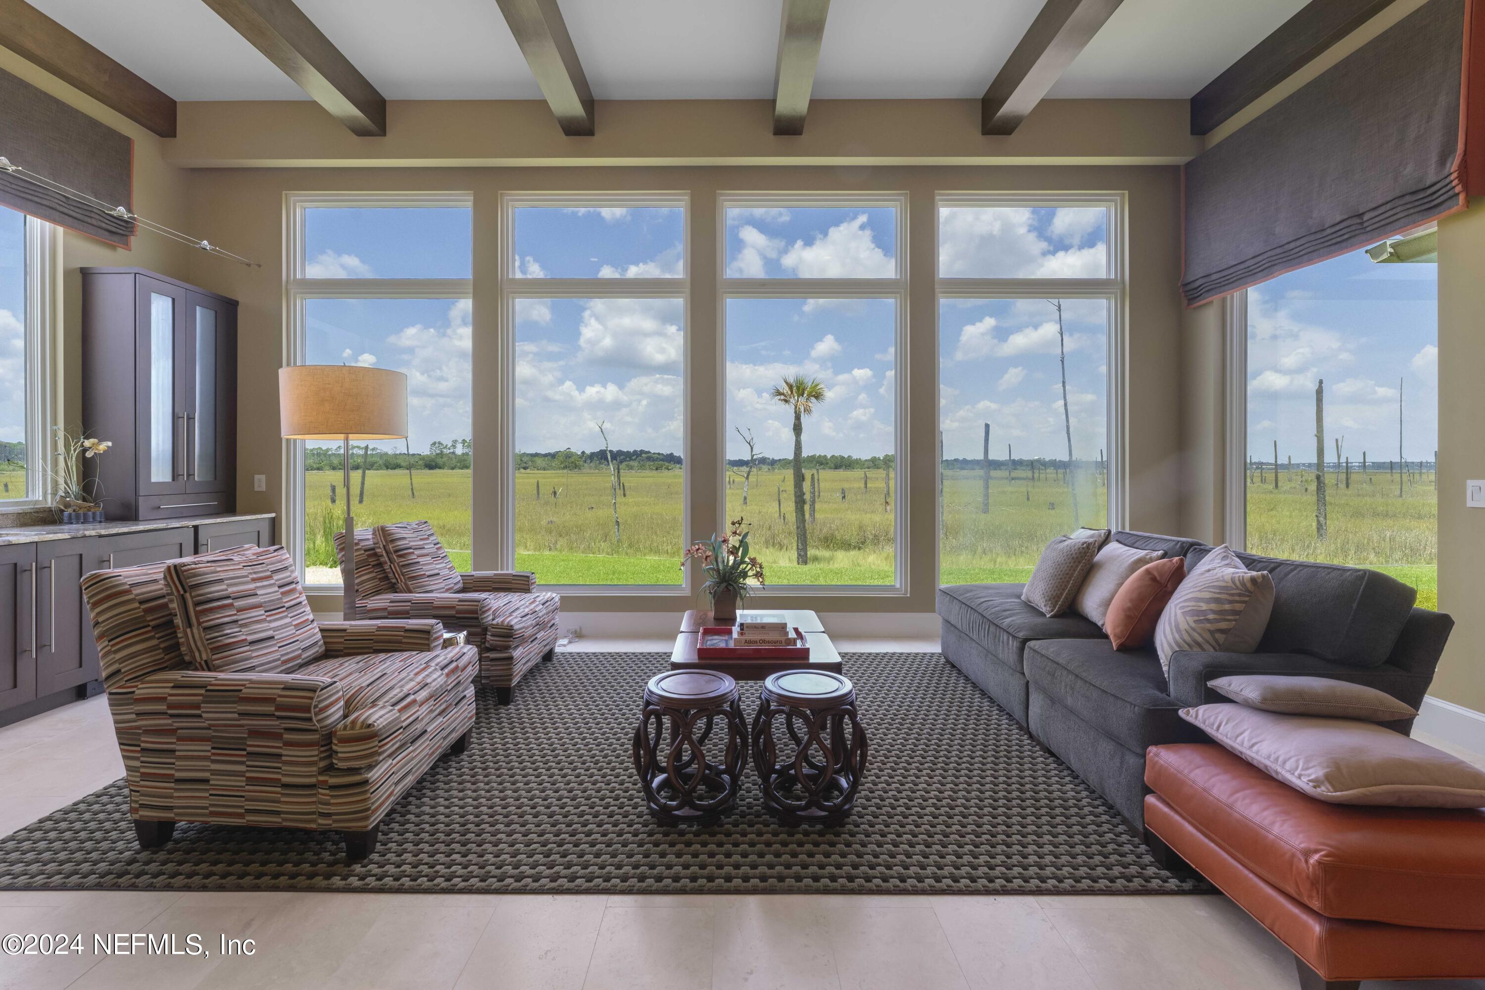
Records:
{"label": "white frame of back-wall window second from left, right of the lamp", "polygon": [[[514,273],[515,211],[521,208],[579,209],[625,206],[628,209],[680,209],[680,278],[524,278]],[[496,435],[496,463],[503,481],[496,490],[496,514],[502,519],[496,549],[502,567],[515,567],[515,303],[523,298],[679,298],[682,304],[682,521],[680,540],[691,531],[691,194],[685,191],[616,193],[502,193],[500,194],[500,429]],[[676,585],[542,585],[546,591],[581,595],[691,595],[691,570]]]}

